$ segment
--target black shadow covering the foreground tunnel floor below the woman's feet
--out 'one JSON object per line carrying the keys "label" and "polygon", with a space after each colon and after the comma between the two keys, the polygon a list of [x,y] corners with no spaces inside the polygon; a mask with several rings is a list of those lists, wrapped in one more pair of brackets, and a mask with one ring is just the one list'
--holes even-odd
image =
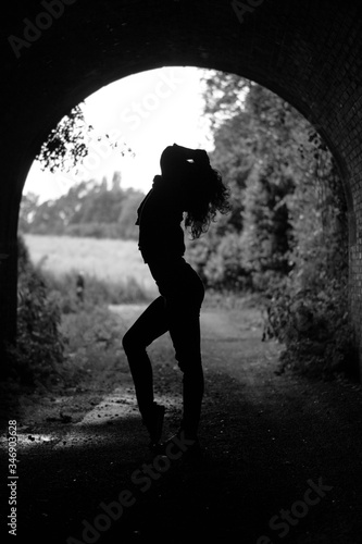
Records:
{"label": "black shadow covering the foreground tunnel floor below the woman's feet", "polygon": [[54,441],[21,454],[17,542],[361,543],[360,392],[316,383],[294,396],[290,379],[289,396],[261,406],[237,380],[205,378],[199,462],[152,456],[137,415],[63,436],[39,428]]}

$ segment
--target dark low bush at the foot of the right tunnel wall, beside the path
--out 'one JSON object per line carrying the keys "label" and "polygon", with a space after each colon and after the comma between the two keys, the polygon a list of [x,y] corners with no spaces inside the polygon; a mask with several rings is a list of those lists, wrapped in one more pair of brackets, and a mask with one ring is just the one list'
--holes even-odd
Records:
{"label": "dark low bush at the foot of the right tunnel wall, beside the path", "polygon": [[266,336],[284,345],[280,372],[291,369],[309,376],[357,378],[358,361],[348,312],[347,282],[325,281],[323,289],[299,292],[285,286],[267,306]]}

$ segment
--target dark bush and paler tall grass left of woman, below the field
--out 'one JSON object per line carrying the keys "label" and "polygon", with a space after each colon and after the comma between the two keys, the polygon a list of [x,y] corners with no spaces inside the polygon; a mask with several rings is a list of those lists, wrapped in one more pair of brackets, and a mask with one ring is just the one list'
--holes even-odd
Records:
{"label": "dark bush and paler tall grass left of woman, below the field", "polygon": [[32,387],[67,386],[83,381],[87,369],[117,361],[124,331],[107,306],[147,301],[147,295],[134,280],[115,284],[86,275],[83,300],[75,286],[75,272],[59,276],[32,264],[18,237],[17,339],[8,348],[4,378]]}

